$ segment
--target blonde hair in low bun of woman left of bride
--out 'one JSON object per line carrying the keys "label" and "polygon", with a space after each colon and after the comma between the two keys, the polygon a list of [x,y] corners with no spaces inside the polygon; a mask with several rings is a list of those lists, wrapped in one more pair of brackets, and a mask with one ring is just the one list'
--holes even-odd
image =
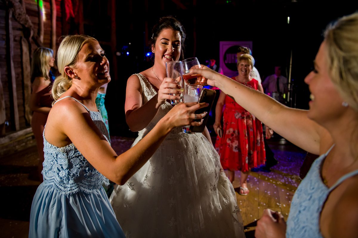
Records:
{"label": "blonde hair in low bun of woman left of bride", "polygon": [[72,35],[63,38],[57,51],[57,65],[61,75],[56,77],[52,86],[52,97],[55,101],[72,85],[72,79],[65,73],[64,68],[76,64],[78,52],[89,40],[97,41],[86,35]]}

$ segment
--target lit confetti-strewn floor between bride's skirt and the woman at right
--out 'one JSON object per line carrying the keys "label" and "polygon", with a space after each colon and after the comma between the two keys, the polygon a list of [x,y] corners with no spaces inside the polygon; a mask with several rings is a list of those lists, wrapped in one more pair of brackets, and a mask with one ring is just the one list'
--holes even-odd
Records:
{"label": "lit confetti-strewn floor between bride's skirt and the woman at right", "polygon": [[301,181],[299,172],[306,152],[286,141],[269,141],[269,145],[279,163],[271,172],[250,172],[247,196],[239,195],[240,172],[235,173],[233,186],[247,238],[254,237],[256,221],[266,208],[281,212],[287,220],[292,197]]}

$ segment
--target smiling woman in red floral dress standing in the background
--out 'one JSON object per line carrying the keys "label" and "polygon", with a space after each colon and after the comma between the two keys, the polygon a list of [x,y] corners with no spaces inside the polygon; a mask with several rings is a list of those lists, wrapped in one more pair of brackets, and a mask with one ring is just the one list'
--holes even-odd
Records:
{"label": "smiling woman in red floral dress standing in the background", "polygon": [[[255,60],[251,55],[241,55],[237,60],[239,75],[232,79],[263,92],[261,84],[250,76],[254,64]],[[215,144],[222,167],[228,169],[231,182],[234,180],[235,171],[241,171],[239,194],[247,195],[247,177],[250,169],[265,163],[261,121],[221,92],[216,105],[214,130],[218,135],[222,134],[221,137],[217,137]]]}

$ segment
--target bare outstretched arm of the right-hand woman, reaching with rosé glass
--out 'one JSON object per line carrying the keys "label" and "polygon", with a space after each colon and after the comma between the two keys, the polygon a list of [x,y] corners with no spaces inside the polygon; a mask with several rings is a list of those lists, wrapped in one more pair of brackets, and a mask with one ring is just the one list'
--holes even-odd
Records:
{"label": "bare outstretched arm of the right-hand woman, reaching with ros\u00e9 glass", "polygon": [[190,73],[203,75],[208,79],[209,85],[232,96],[243,108],[295,145],[314,154],[320,153],[321,138],[328,132],[307,117],[308,111],[286,107],[205,66],[202,69],[192,69]]}

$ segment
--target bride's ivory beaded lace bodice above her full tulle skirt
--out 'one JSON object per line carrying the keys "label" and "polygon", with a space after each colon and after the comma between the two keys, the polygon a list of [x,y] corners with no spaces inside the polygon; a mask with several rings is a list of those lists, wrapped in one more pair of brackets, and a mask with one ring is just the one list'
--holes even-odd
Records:
{"label": "bride's ivory beaded lace bodice above her full tulle skirt", "polygon": [[[144,105],[147,101],[149,101],[152,97],[154,97],[157,92],[147,80],[147,78],[142,74],[136,74],[139,77],[140,85],[142,87],[142,105]],[[168,113],[173,106],[169,102],[163,103],[158,113],[155,115],[153,120],[141,131],[139,131],[138,136],[143,138],[148,132],[150,132],[153,127],[159,122],[159,120]],[[187,137],[190,134],[184,133],[182,127],[176,127],[170,131],[169,135],[165,138],[165,140],[172,140],[181,137]]]}

